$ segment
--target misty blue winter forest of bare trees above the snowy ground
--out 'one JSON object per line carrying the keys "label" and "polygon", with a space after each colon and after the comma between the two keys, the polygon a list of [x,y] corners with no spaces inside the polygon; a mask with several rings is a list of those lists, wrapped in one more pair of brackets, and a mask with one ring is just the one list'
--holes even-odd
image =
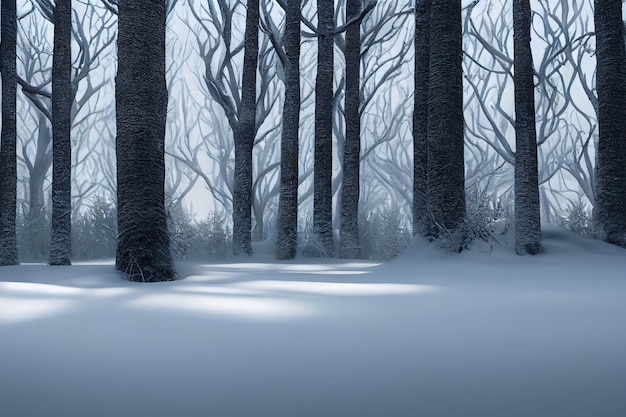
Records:
{"label": "misty blue winter forest of bare trees above the snowy ground", "polygon": [[[171,1],[162,16],[128,12],[130,33],[142,19],[164,32],[145,45],[124,43],[117,2],[9,3],[3,91],[18,94],[3,101],[3,264],[119,257],[142,250],[137,233],[174,257],[274,240],[278,259],[388,260],[414,234],[461,250],[513,224],[517,252],[536,253],[540,218],[624,245],[621,105],[607,95],[601,137],[596,87],[620,84],[619,2],[595,15],[606,75],[585,0],[450,2],[441,18],[438,2]],[[129,120],[126,136],[124,74],[148,100],[144,114],[130,99],[127,117],[146,125]],[[141,81],[163,78],[157,103]],[[138,229],[118,240],[126,221]]]}

